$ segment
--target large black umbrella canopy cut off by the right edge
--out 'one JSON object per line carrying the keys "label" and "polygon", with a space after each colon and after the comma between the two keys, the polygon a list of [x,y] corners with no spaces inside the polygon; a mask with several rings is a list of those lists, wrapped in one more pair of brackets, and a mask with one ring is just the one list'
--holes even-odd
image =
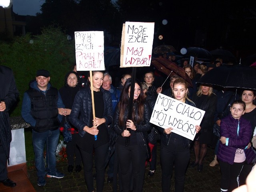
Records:
{"label": "large black umbrella canopy cut off by the right edge", "polygon": [[208,71],[196,83],[224,88],[256,89],[256,69],[244,66],[220,66]]}

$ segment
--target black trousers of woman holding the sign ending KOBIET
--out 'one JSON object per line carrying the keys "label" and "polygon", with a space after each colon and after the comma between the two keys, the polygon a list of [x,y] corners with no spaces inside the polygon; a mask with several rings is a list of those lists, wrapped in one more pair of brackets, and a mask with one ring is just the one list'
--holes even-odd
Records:
{"label": "black trousers of woman holding the sign ending KOBIET", "polygon": [[[96,186],[97,192],[102,192],[105,178],[105,158],[108,149],[108,143],[94,148],[95,150],[95,167],[97,172]],[[86,152],[80,148],[82,161],[84,164],[84,179],[88,192],[94,191],[93,187],[93,176],[92,176],[92,167],[93,167],[93,152]]]}

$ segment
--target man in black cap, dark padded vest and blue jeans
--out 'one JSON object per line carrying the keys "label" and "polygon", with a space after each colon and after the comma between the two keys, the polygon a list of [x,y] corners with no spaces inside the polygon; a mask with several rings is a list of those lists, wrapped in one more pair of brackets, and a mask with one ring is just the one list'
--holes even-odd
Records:
{"label": "man in black cap, dark padded vest and blue jeans", "polygon": [[[60,94],[53,88],[50,73],[38,70],[36,80],[24,93],[22,118],[32,127],[32,142],[35,153],[35,166],[38,170],[38,185],[44,186],[47,177],[63,178],[64,174],[56,170],[55,152],[60,136],[59,125],[66,110]],[[46,163],[44,166],[44,146],[46,144]]]}

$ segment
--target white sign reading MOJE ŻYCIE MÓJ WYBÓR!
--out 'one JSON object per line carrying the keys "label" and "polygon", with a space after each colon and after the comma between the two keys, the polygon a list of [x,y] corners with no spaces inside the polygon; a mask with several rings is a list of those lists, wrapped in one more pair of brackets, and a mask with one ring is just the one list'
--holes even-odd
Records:
{"label": "white sign reading MOJE \u017bYCIE M\u00d3J WYB\u00d3R!", "polygon": [[150,66],[154,23],[125,22],[122,30],[120,67]]}

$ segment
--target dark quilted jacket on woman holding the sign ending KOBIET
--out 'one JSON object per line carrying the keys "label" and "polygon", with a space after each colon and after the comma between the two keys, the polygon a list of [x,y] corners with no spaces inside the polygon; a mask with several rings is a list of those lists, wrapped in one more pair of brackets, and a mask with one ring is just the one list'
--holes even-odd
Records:
{"label": "dark quilted jacket on woman holding the sign ending KOBIET", "polygon": [[[103,118],[106,119],[105,124],[110,124],[113,120],[112,116],[112,99],[109,91],[100,88],[103,94],[104,100],[104,112]],[[77,92],[72,106],[72,110],[69,116],[69,121],[78,129],[78,133],[81,137],[86,134],[84,127],[92,127],[90,122],[92,114],[92,95],[90,88],[85,88]]]}

